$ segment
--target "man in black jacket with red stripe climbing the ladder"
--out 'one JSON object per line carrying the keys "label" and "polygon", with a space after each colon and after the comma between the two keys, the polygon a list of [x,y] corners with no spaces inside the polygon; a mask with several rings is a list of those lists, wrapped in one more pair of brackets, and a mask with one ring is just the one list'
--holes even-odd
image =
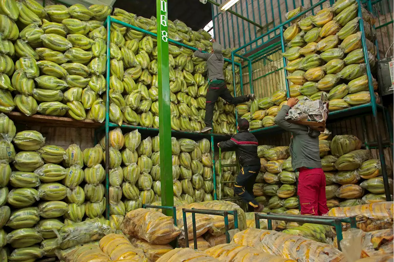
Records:
{"label": "man in black jacket with red stripe climbing the ladder", "polygon": [[236,151],[242,168],[236,178],[234,193],[253,207],[255,212],[261,212],[264,206],[253,196],[253,185],[260,170],[260,159],[257,156],[258,141],[253,134],[249,133],[249,122],[246,119],[240,118],[237,128],[239,133],[230,140],[217,143],[217,146],[223,151]]}

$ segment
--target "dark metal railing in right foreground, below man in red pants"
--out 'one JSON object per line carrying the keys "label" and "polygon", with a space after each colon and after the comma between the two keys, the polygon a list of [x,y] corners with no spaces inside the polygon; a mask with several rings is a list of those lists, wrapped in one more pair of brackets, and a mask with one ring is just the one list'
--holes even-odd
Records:
{"label": "dark metal railing in right foreground, below man in red pants", "polygon": [[351,228],[357,228],[356,218],[341,218],[335,216],[307,216],[307,215],[291,215],[291,214],[261,214],[255,213],[256,228],[260,229],[260,219],[266,219],[268,230],[272,230],[272,220],[280,220],[286,222],[313,223],[318,225],[329,225],[335,227],[336,238],[338,240],[338,249],[342,251],[340,242],[342,236],[342,223],[350,223]]}

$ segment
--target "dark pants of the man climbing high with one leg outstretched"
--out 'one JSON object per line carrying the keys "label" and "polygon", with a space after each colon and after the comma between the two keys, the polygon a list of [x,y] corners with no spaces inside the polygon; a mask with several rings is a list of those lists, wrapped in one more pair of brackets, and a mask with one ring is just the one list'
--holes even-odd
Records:
{"label": "dark pants of the man climbing high with one leg outstretched", "polygon": [[221,83],[211,83],[206,91],[206,103],[205,103],[205,126],[212,127],[212,118],[214,116],[214,106],[219,98],[223,98],[227,103],[237,105],[240,103],[245,103],[249,101],[248,96],[237,96],[232,97],[230,90],[227,89],[226,83],[223,81]]}

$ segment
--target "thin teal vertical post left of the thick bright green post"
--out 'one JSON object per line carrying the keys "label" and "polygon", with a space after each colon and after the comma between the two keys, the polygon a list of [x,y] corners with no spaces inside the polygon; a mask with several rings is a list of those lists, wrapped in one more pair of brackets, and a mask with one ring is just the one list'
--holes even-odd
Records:
{"label": "thin teal vertical post left of the thick bright green post", "polygon": [[110,219],[110,35],[111,17],[107,17],[107,81],[106,81],[106,101],[105,101],[105,217]]}

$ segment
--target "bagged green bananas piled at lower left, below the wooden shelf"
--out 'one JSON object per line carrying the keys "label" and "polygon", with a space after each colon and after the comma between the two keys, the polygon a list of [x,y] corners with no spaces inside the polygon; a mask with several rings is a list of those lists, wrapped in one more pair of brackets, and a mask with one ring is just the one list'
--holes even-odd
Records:
{"label": "bagged green bananas piled at lower left, below the wooden shelf", "polygon": [[[75,144],[66,150],[45,145],[37,131],[17,133],[4,114],[0,135],[0,252],[9,252],[10,261],[52,257],[58,248],[97,240],[110,229],[110,221],[102,217],[106,200],[100,146],[82,152]],[[80,228],[89,230],[71,234]]]}

